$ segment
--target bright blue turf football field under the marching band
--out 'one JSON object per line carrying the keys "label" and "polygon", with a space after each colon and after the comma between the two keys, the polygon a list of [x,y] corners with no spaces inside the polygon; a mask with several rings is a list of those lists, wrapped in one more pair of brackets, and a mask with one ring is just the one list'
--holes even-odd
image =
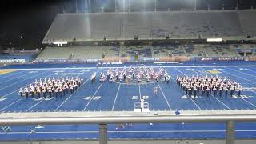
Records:
{"label": "bright blue turf football field under the marching band", "polygon": [[[251,64],[251,63],[250,63]],[[255,65],[256,66],[256,65]],[[139,96],[148,96],[150,110],[256,110],[256,67],[255,66],[166,66],[172,78],[177,75],[210,75],[234,79],[241,83],[242,98],[209,97],[186,98],[186,94],[171,79],[169,85],[165,82],[148,85],[129,85],[104,82],[91,84],[86,81],[94,71],[106,72],[107,68],[80,69],[34,69],[17,70],[0,75],[0,112],[47,112],[47,111],[122,111],[133,110],[134,102],[139,102]],[[211,71],[209,71],[211,70]],[[23,98],[19,87],[29,85],[34,79],[62,76],[82,76],[85,84],[74,94],[62,98]],[[158,95],[153,95],[154,87],[160,88]],[[98,138],[97,125],[85,126],[11,126],[11,131],[5,134],[0,130],[0,140],[30,140],[30,139],[93,139]],[[225,138],[225,123],[203,124],[139,124],[126,126],[116,131],[114,125],[109,125],[109,138]],[[34,132],[35,131],[35,132]],[[255,123],[237,123],[237,138],[256,138]]]}

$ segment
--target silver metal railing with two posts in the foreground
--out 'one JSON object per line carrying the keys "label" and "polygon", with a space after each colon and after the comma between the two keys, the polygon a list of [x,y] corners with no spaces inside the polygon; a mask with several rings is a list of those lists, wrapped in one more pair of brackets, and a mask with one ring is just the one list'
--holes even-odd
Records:
{"label": "silver metal railing with two posts in the foreground", "polygon": [[97,116],[70,118],[1,118],[0,126],[98,124],[99,142],[107,143],[107,124],[226,122],[226,144],[234,144],[234,122],[256,122],[256,115]]}

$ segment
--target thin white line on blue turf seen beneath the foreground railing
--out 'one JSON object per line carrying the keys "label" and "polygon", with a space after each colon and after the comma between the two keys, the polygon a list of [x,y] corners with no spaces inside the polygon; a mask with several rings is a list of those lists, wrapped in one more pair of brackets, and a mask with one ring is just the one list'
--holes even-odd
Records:
{"label": "thin white line on blue turf seen beneath the foreground railing", "polygon": [[[256,130],[234,130],[236,132],[256,132]],[[108,133],[223,133],[226,130],[141,130],[141,131],[107,131]],[[98,133],[98,131],[37,131],[38,134],[83,134],[83,133]],[[6,134],[0,132],[0,134]],[[30,131],[15,131],[7,134],[30,134]]]}

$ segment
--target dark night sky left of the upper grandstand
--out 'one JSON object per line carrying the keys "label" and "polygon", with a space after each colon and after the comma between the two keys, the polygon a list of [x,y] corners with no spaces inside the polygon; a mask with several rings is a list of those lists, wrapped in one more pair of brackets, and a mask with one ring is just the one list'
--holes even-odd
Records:
{"label": "dark night sky left of the upper grandstand", "polygon": [[[57,1],[1,1],[1,42],[14,46],[38,46],[59,13]],[[20,38],[22,36],[22,38]]]}

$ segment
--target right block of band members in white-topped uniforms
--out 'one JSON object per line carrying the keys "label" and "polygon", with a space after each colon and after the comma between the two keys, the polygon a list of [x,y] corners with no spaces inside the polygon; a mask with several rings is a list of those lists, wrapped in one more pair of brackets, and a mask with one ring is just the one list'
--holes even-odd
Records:
{"label": "right block of band members in white-topped uniforms", "polygon": [[220,97],[222,95],[227,96],[228,94],[230,94],[230,97],[232,97],[235,92],[240,97],[242,91],[242,86],[238,82],[218,76],[177,76],[176,81],[181,89],[189,95],[189,97],[191,97],[192,95],[196,97],[200,94],[201,97],[203,97],[205,94],[207,97],[209,97],[209,95],[213,95],[215,97],[217,96],[217,94]]}

